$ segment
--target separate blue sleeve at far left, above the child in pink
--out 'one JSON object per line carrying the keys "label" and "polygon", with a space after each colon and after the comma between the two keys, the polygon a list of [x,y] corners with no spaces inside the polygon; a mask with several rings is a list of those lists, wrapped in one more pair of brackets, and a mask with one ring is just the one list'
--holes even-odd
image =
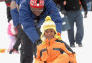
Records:
{"label": "separate blue sleeve at far left, above the child in pink", "polygon": [[17,8],[10,10],[11,17],[13,19],[14,26],[16,27],[19,24],[19,12]]}

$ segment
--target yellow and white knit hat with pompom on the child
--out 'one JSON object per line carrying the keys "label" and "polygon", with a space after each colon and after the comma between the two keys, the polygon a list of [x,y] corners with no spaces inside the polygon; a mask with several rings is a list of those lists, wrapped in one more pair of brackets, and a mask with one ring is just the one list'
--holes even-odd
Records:
{"label": "yellow and white knit hat with pompom on the child", "polygon": [[40,31],[41,31],[41,40],[44,41],[46,38],[44,37],[44,32],[45,30],[47,29],[53,29],[56,33],[56,25],[55,23],[52,21],[51,17],[50,16],[47,16],[45,18],[45,21],[44,23],[41,25],[41,28],[40,28]]}

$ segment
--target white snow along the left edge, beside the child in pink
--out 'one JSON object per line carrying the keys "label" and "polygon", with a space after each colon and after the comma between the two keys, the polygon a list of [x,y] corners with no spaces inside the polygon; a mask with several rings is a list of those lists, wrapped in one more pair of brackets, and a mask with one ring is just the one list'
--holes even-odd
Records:
{"label": "white snow along the left edge, beside the child in pink", "polygon": [[[9,46],[6,13],[5,2],[0,2],[0,49],[8,49]],[[9,54],[7,51],[5,53],[0,53],[0,63],[20,63],[20,55]]]}

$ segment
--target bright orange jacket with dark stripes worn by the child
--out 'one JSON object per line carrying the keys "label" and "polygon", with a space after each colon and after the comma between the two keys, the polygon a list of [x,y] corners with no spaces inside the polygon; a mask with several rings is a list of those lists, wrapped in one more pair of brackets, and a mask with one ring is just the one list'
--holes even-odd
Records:
{"label": "bright orange jacket with dark stripes worn by the child", "polygon": [[47,63],[52,62],[64,52],[68,55],[72,54],[66,49],[64,43],[56,42],[56,39],[53,38],[50,41],[46,40],[45,44],[40,44],[37,46],[36,60],[38,60],[40,63],[43,63],[44,61]]}

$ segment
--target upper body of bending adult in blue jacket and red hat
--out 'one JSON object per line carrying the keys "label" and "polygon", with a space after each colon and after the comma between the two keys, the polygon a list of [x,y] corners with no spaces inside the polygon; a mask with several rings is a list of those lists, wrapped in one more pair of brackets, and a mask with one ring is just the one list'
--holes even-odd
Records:
{"label": "upper body of bending adult in blue jacket and red hat", "polygon": [[21,5],[19,21],[23,26],[24,32],[33,43],[40,39],[37,29],[39,30],[47,15],[51,16],[52,20],[55,21],[57,31],[61,32],[62,19],[52,0],[26,0]]}

